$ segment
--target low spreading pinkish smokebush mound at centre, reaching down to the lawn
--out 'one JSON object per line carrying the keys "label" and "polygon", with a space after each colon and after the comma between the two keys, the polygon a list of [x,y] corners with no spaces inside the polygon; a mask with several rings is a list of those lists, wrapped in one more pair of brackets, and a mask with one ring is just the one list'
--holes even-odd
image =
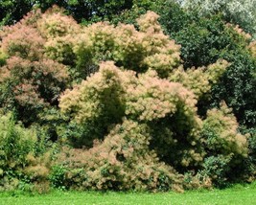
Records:
{"label": "low spreading pinkish smokebush mound at centre, reaching down to the lawn", "polygon": [[[63,186],[78,190],[182,191],[186,186],[183,176],[159,162],[149,144],[147,125],[127,120],[89,150],[63,149],[58,158],[65,170],[64,175],[61,172]],[[55,171],[53,174],[58,177]]]}

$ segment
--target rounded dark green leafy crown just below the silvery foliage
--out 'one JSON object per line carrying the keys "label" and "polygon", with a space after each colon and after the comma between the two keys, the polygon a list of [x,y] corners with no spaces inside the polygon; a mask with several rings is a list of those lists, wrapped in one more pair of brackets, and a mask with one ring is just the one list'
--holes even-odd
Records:
{"label": "rounded dark green leafy crown just below the silvery foliage", "polygon": [[[216,15],[211,18],[198,18],[172,35],[181,44],[181,57],[186,68],[208,65],[226,51],[246,45],[245,40],[226,27],[220,16]],[[237,39],[241,39],[240,42]]]}

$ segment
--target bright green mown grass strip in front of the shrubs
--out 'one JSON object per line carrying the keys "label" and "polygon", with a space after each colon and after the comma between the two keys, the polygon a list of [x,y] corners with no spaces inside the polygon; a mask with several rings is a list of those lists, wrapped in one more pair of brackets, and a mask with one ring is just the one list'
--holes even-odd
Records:
{"label": "bright green mown grass strip in front of the shrubs", "polygon": [[11,194],[0,193],[2,205],[34,205],[34,204],[239,204],[256,205],[256,183],[236,185],[225,190],[192,191],[184,194],[176,193],[96,193],[96,192],[60,192],[51,194]]}

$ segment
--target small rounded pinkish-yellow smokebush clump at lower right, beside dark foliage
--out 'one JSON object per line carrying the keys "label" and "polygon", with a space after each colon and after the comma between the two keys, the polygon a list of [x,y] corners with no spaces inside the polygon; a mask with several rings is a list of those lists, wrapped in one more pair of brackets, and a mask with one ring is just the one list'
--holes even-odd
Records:
{"label": "small rounded pinkish-yellow smokebush clump at lower right, beside dark foliage", "polygon": [[236,118],[225,104],[221,105],[220,110],[214,108],[207,112],[202,135],[211,154],[247,155],[246,138],[238,133]]}

